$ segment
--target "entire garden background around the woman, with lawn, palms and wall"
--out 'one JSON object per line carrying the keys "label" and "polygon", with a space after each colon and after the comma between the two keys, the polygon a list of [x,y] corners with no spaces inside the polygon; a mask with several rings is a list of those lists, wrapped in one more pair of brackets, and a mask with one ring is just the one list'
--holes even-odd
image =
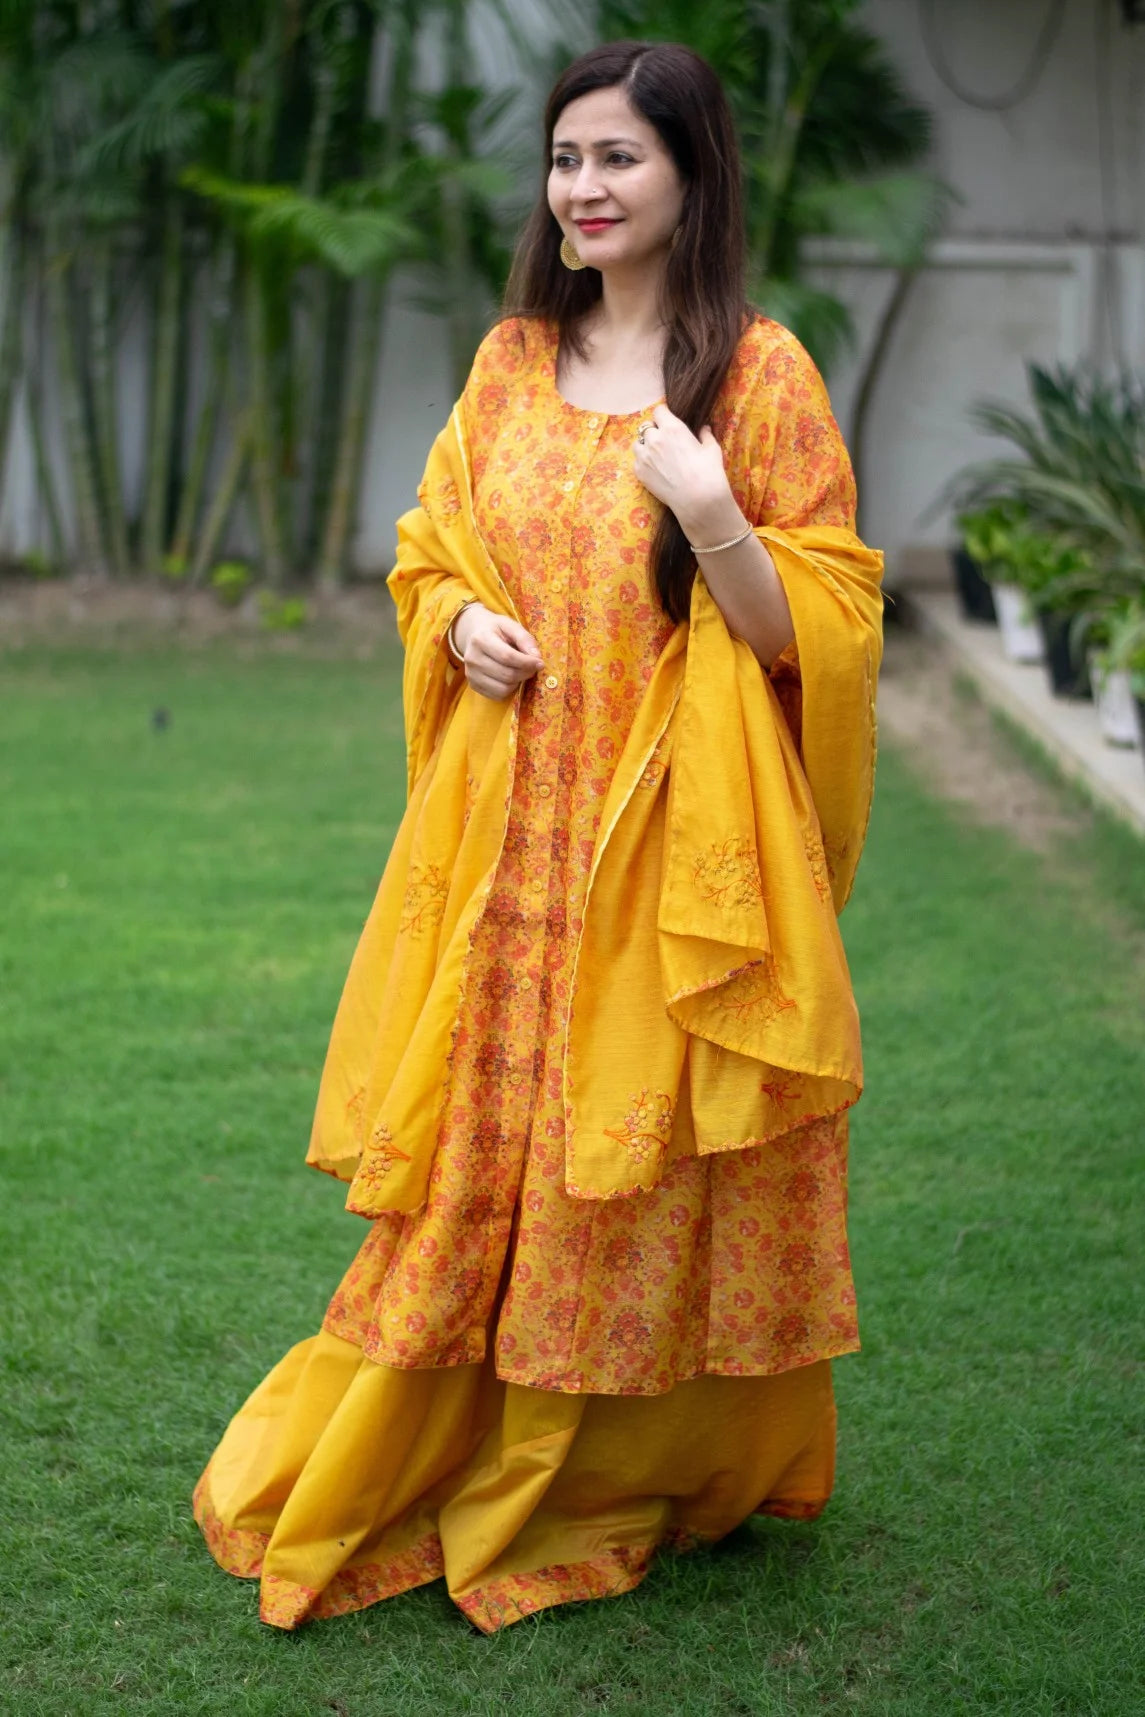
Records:
{"label": "entire garden background around the woman, with lawn, palms and wall", "polygon": [[[1142,845],[894,623],[984,393],[1033,440],[975,505],[1083,556],[1073,618],[1140,601],[1135,10],[0,0],[2,1712],[1145,1708]],[[376,573],[601,33],[724,72],[754,290],[900,596],[839,1487],[493,1640],[439,1587],[282,1636],[189,1490],[357,1245],[300,1159],[403,798]],[[1076,381],[1068,470],[1028,361]]]}

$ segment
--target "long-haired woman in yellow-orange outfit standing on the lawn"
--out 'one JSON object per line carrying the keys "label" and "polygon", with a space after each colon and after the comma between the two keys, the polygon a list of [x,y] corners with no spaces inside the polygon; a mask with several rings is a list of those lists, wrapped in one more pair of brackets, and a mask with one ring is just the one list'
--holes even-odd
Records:
{"label": "long-haired woman in yellow-orange outfit standing on the lawn", "polygon": [[196,1494],[280,1628],[445,1574],[494,1631],[810,1518],[858,1344],[836,910],[881,561],[743,304],[711,69],[597,48],[546,151],[398,527],[410,798],[309,1154],[371,1231]]}

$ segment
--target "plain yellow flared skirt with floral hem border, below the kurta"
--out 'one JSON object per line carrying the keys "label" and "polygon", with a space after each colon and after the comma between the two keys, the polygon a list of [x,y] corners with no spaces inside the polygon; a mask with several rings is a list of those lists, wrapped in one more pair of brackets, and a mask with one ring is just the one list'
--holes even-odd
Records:
{"label": "plain yellow flared skirt with floral hem border, below the kurta", "polygon": [[659,1545],[831,1494],[821,1360],[694,1377],[659,1396],[556,1394],[493,1362],[398,1370],[338,1336],[299,1343],[232,1420],[196,1489],[216,1562],[297,1628],[445,1578],[484,1633],[630,1592]]}

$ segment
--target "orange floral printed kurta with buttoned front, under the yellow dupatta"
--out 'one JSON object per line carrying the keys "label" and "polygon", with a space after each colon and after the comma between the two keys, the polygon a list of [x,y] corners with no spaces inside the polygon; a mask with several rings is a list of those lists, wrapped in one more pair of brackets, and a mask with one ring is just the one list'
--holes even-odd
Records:
{"label": "orange floral printed kurta with buttoned front, under the yellow dupatta", "polygon": [[[554,355],[546,325],[501,323],[462,402],[476,524],[544,666],[520,699],[508,833],[467,963],[429,1197],[373,1223],[326,1329],[393,1367],[472,1363],[491,1339],[506,1382],[656,1394],[704,1372],[766,1375],[858,1344],[846,1116],[745,1150],[680,1152],[637,1197],[566,1192],[565,1020],[589,867],[673,627],[649,592],[657,503],[632,470],[645,412],[566,403]],[[764,390],[779,391],[778,416],[757,409]],[[781,426],[774,443],[766,422]],[[822,383],[774,323],[745,331],[714,429],[736,493],[762,484],[767,524],[853,525]],[[793,651],[772,683],[798,723]],[[666,745],[644,785],[669,769]],[[822,853],[807,858],[826,888]],[[433,907],[445,879],[427,872],[421,886]],[[632,1090],[618,1132],[639,1154],[669,1116],[639,1068]],[[785,1094],[772,1095],[781,1107]]]}

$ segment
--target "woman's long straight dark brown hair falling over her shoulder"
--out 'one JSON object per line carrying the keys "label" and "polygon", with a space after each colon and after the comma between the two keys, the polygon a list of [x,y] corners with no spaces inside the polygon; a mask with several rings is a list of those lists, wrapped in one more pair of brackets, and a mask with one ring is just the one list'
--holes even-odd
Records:
{"label": "woman's long straight dark brown hair falling over her shoulder", "polygon": [[[577,273],[560,259],[561,228],[548,204],[553,130],[570,101],[592,89],[623,88],[656,127],[685,185],[680,232],[664,276],[664,397],[694,434],[709,422],[747,321],[740,149],[731,110],[714,70],[690,48],[659,41],[609,41],[561,72],[544,108],[541,197],[525,223],[505,294],[506,316],[544,316],[560,328],[560,350],[584,355],[584,316],[601,297],[596,268]],[[695,560],[675,513],[652,541],[652,579],[664,613],[685,620]]]}

